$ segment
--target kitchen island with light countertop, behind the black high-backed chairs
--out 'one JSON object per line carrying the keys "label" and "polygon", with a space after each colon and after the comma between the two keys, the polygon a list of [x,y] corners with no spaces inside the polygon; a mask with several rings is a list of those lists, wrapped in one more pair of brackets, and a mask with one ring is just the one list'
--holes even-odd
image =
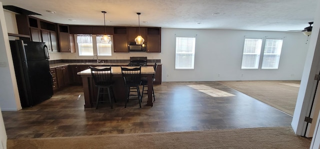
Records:
{"label": "kitchen island with light countertop, behind the black high-backed chairs", "polygon": [[[96,68],[105,68],[103,66],[98,66]],[[134,66],[127,66],[126,68],[134,68]],[[113,91],[114,96],[117,101],[125,101],[124,95],[124,81],[121,74],[121,67],[120,66],[112,66],[111,73],[113,75],[112,79],[114,81],[113,84]],[[146,106],[153,106],[152,103],[152,75],[154,74],[154,70],[152,66],[143,66],[141,67],[141,77],[147,77],[147,104]],[[83,93],[84,93],[84,109],[92,108],[93,102],[96,99],[97,89],[94,86],[94,82],[92,80],[91,71],[90,69],[86,69],[77,73],[82,78],[82,85],[83,85]]]}

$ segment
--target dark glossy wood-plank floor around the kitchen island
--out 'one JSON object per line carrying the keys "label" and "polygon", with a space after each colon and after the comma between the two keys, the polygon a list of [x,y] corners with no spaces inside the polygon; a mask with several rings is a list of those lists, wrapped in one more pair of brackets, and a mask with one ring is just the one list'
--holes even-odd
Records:
{"label": "dark glossy wood-plank floor around the kitchen island", "polygon": [[[187,85],[202,84],[235,96],[212,97]],[[20,111],[2,112],[8,139],[179,132],[290,126],[292,117],[217,82],[162,82],[153,107],[118,101],[113,109],[83,108],[81,86]],[[81,95],[79,97],[79,95]],[[146,104],[146,97],[143,98]]]}

